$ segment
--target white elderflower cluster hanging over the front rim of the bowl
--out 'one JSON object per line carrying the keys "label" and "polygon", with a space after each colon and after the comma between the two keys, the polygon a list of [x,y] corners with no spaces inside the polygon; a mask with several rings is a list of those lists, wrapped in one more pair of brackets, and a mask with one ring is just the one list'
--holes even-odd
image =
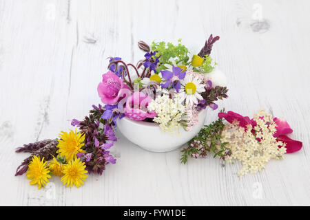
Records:
{"label": "white elderflower cluster hanging over the front rim of the bowl", "polygon": [[185,126],[186,106],[182,104],[179,94],[172,94],[169,98],[167,89],[156,89],[156,98],[147,106],[149,111],[157,113],[154,122],[158,123],[163,132],[175,133]]}

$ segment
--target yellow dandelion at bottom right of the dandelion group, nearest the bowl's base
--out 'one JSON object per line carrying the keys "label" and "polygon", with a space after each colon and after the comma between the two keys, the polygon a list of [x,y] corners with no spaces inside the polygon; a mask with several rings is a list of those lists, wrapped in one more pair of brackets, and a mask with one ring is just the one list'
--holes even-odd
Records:
{"label": "yellow dandelion at bottom right of the dandelion group, nearest the bowl's base", "polygon": [[83,185],[85,181],[85,178],[88,177],[85,173],[87,173],[87,170],[85,170],[86,166],[84,165],[84,162],[80,161],[79,159],[74,159],[70,161],[68,164],[64,164],[63,168],[63,177],[61,177],[61,181],[63,181],[63,185],[67,184],[67,187],[70,186],[76,186],[79,188],[81,184]]}

